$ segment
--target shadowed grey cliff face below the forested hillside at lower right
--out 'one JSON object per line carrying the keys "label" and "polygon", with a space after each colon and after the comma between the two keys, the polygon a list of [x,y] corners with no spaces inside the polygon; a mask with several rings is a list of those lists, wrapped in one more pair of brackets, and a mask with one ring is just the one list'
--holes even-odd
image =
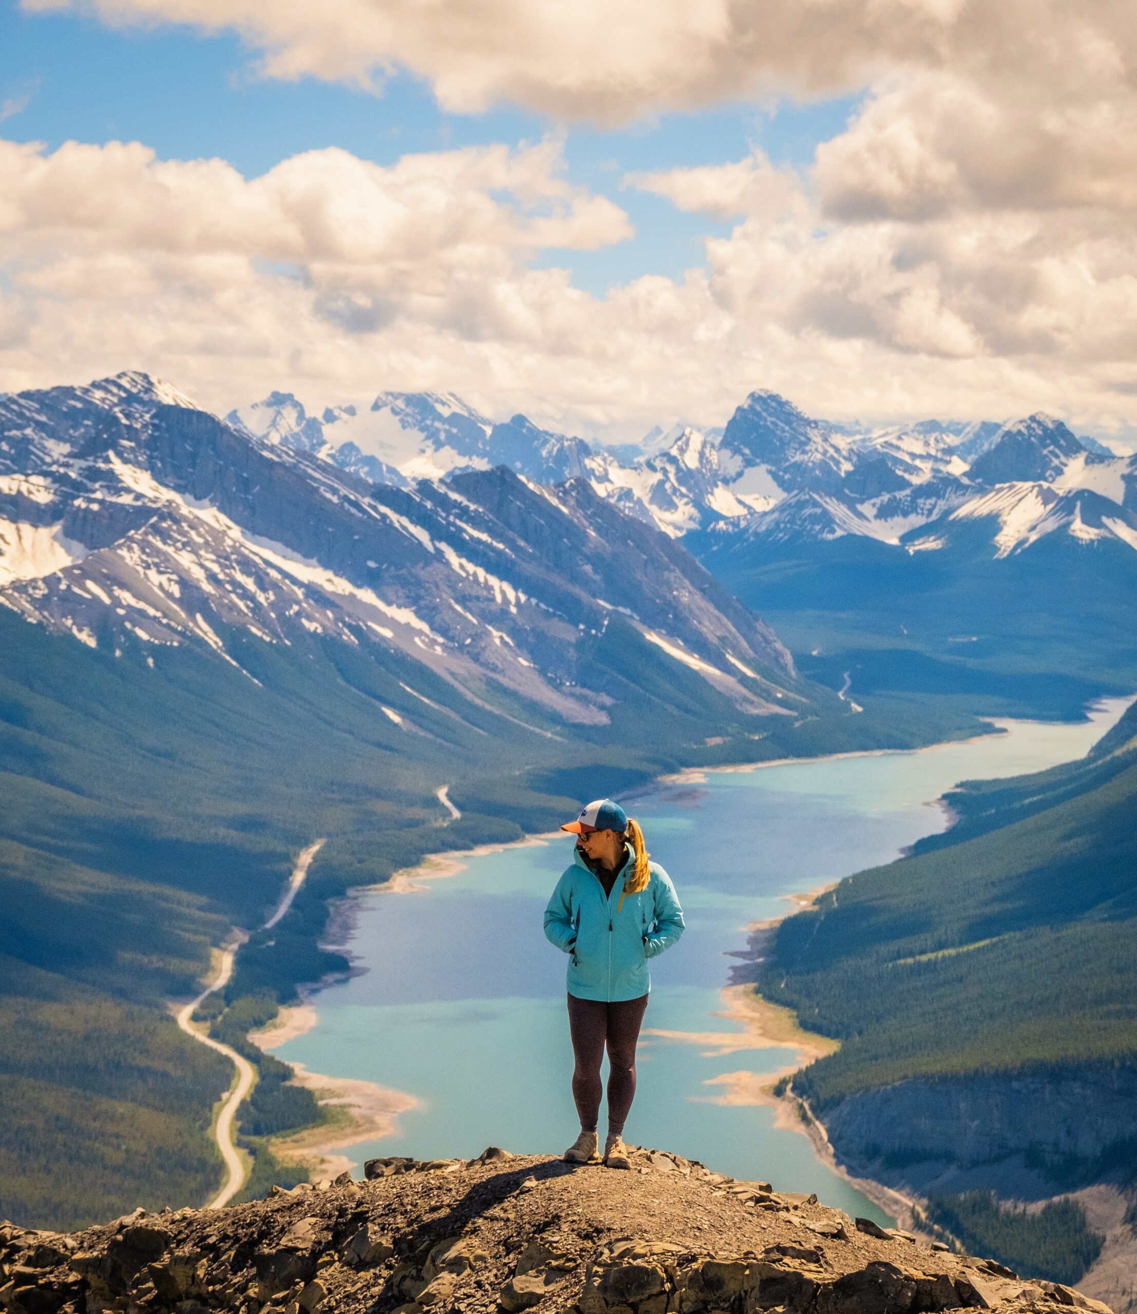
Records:
{"label": "shadowed grey cliff face below the forested hillside at lower right", "polygon": [[1137,1067],[1087,1064],[899,1081],[841,1100],[824,1121],[835,1151],[860,1172],[924,1190],[948,1166],[1015,1156],[1092,1176],[1132,1138],[1134,1108]]}

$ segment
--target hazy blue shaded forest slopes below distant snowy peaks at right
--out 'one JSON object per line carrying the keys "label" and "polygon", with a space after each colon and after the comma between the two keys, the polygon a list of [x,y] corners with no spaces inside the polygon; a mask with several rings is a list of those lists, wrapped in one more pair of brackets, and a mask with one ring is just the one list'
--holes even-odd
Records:
{"label": "hazy blue shaded forest slopes below distant snowy peaks at right", "polygon": [[[1077,716],[1137,683],[1137,553],[1054,535],[994,558],[987,522],[939,552],[873,539],[686,545],[793,650],[866,707],[891,699],[986,716]],[[1061,583],[1058,583],[1061,581]]]}

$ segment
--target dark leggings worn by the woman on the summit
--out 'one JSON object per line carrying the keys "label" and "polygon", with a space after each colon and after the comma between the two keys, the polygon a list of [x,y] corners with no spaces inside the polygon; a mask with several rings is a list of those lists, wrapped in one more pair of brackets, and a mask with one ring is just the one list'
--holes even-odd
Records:
{"label": "dark leggings worn by the woman on the summit", "polygon": [[581,1127],[595,1131],[601,1109],[601,1060],[609,1050],[609,1135],[620,1135],[636,1093],[636,1041],[648,996],[606,1004],[569,995],[573,1038],[573,1099]]}

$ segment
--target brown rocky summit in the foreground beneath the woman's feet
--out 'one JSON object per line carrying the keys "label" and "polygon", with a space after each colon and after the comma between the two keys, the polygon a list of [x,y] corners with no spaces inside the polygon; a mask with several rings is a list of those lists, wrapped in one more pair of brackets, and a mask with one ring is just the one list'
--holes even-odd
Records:
{"label": "brown rocky summit in the foreground beneath the woman's feet", "polygon": [[71,1235],[0,1225],[0,1305],[9,1314],[1109,1314],[1071,1288],[655,1150],[634,1151],[631,1172],[492,1147],[469,1162],[372,1159],[365,1173],[216,1212],[138,1210]]}

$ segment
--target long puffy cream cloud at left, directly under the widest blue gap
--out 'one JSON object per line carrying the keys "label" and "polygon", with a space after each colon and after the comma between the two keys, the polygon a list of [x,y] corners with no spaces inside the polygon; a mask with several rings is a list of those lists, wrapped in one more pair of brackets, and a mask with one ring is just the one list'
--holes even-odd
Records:
{"label": "long puffy cream cloud at left, directly under the widest blue gap", "polygon": [[[505,193],[509,201],[496,198]],[[138,142],[0,142],[0,233],[171,256],[258,255],[322,268],[484,271],[501,252],[631,235],[611,201],[564,181],[556,142],[406,155],[384,168],[309,151],[247,181],[223,160],[158,160]]]}

